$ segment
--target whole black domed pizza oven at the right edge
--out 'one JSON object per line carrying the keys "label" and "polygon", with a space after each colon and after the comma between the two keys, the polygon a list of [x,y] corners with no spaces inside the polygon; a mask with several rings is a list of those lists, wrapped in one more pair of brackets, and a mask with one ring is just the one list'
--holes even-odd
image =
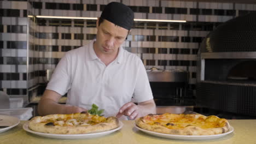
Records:
{"label": "whole black domed pizza oven at the right edge", "polygon": [[196,102],[256,116],[256,13],[236,17],[207,35],[197,53]]}

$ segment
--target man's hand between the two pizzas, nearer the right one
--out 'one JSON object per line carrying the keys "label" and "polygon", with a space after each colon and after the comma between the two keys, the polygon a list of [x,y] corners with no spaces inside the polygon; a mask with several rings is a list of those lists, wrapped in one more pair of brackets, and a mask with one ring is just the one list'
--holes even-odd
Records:
{"label": "man's hand between the two pizzas, nearer the right one", "polygon": [[124,104],[118,114],[117,114],[117,118],[120,118],[121,116],[125,115],[125,116],[129,116],[130,119],[135,119],[138,117],[139,114],[139,106],[129,102]]}

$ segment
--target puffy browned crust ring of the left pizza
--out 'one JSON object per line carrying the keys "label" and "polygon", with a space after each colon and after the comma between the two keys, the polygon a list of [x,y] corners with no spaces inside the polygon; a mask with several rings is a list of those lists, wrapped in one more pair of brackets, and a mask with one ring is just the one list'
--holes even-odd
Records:
{"label": "puffy browned crust ring of the left pizza", "polygon": [[[88,133],[97,133],[100,131],[107,131],[118,127],[119,120],[116,117],[108,117],[106,121],[100,122],[94,125],[83,124],[83,125],[70,125],[70,126],[61,126],[54,125],[49,123],[50,121],[57,121],[57,119],[86,119],[90,117],[89,113],[74,113],[68,115],[48,115],[44,117],[34,117],[28,123],[28,127],[33,131],[38,131],[40,133],[49,133],[49,134],[88,134]],[[48,121],[48,122],[45,122]]]}

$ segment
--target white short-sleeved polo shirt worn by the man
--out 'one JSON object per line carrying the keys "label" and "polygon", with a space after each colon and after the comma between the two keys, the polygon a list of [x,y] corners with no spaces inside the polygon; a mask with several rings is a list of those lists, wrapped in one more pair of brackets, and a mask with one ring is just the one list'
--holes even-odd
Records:
{"label": "white short-sleeved polo shirt worn by the man", "polygon": [[[106,66],[96,56],[94,41],[66,52],[54,70],[46,89],[61,95],[67,103],[91,109],[96,104],[104,116],[117,115],[121,106],[153,99],[146,69],[139,57],[119,47],[117,58]],[[122,119],[126,119],[123,117]]]}

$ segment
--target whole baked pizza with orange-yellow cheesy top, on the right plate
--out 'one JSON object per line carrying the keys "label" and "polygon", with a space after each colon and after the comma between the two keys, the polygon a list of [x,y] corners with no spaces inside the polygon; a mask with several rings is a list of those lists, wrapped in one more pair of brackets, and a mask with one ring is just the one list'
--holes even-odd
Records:
{"label": "whole baked pizza with orange-yellow cheesy top, on the right plate", "polygon": [[217,116],[196,114],[149,114],[137,118],[136,125],[142,129],[173,135],[216,135],[226,133],[229,122]]}

